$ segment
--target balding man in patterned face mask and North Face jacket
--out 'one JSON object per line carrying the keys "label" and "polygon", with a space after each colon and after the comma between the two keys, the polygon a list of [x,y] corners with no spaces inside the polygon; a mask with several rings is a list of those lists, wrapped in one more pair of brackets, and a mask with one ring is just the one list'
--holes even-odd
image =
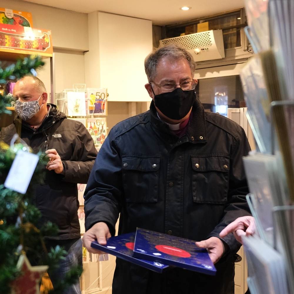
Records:
{"label": "balding man in patterned face mask and North Face jacket", "polygon": [[[49,273],[54,286],[73,265],[82,266],[77,183],[87,183],[97,151],[80,122],[67,119],[55,105],[47,104],[46,89],[39,78],[26,76],[17,81],[14,97],[18,99],[18,117],[1,130],[0,141],[10,144],[18,133],[35,153],[46,151],[49,157],[44,184],[36,187],[35,196],[41,222],[49,220],[59,228],[56,237],[47,238],[46,246],[60,245],[67,251],[59,269]],[[80,294],[79,281],[65,293]]]}

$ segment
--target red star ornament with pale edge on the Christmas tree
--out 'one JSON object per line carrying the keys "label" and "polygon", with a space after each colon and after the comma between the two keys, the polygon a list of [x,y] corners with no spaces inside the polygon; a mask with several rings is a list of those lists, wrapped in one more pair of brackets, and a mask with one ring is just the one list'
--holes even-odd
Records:
{"label": "red star ornament with pale edge on the Christmas tree", "polygon": [[39,294],[40,280],[48,265],[31,266],[26,255],[19,257],[16,267],[21,275],[11,283],[11,294]]}

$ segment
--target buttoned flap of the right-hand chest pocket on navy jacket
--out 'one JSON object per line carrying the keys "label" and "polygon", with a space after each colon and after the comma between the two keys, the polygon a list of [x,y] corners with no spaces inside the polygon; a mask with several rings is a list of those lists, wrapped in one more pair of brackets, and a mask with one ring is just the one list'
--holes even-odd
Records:
{"label": "buttoned flap of the right-hand chest pocket on navy jacket", "polygon": [[228,172],[230,160],[226,156],[191,156],[192,168],[194,171],[222,171]]}

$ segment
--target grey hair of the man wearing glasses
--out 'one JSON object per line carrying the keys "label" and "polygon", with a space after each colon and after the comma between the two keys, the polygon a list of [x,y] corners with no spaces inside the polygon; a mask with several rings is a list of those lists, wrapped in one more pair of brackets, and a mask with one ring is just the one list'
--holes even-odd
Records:
{"label": "grey hair of the man wearing glasses", "polygon": [[148,78],[148,81],[152,81],[156,75],[158,63],[163,57],[168,57],[173,60],[186,59],[191,69],[192,78],[195,71],[195,61],[193,56],[183,47],[178,44],[168,44],[164,47],[160,47],[151,52],[144,61],[145,72]]}

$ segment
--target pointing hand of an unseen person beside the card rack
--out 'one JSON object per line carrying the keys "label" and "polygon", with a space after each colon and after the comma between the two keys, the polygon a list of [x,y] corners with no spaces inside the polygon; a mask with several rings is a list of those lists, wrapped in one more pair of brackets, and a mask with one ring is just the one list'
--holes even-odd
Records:
{"label": "pointing hand of an unseen person beside the card rack", "polygon": [[227,225],[221,232],[220,238],[225,237],[229,233],[234,233],[238,242],[242,243],[242,236],[249,236],[255,233],[255,220],[253,216],[242,216]]}

